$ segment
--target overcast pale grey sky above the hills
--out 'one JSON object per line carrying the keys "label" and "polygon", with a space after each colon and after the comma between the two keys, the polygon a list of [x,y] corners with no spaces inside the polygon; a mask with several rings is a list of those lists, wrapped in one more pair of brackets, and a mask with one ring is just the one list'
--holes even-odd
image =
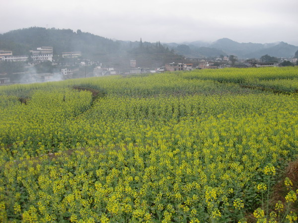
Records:
{"label": "overcast pale grey sky above the hills", "polygon": [[38,26],[130,41],[298,46],[298,0],[0,0],[0,8],[0,33]]}

